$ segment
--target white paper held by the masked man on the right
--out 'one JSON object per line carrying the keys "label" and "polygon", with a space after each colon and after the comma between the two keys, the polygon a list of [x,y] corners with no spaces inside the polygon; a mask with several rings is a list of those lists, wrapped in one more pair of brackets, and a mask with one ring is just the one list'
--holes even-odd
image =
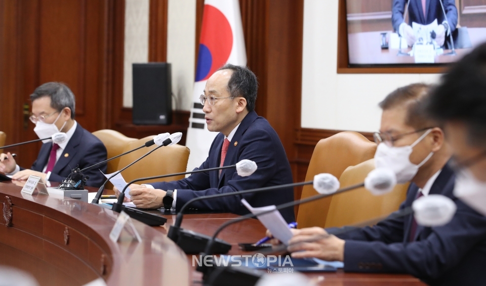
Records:
{"label": "white paper held by the masked man on the right", "polygon": [[[242,199],[241,203],[247,207],[252,214],[257,215],[258,220],[272,233],[273,237],[282,242],[285,245],[289,245],[290,239],[292,239],[292,231],[290,230],[284,217],[276,210],[275,206],[266,206],[261,208],[254,208],[250,204]],[[258,215],[259,213],[274,210],[273,212]]]}

